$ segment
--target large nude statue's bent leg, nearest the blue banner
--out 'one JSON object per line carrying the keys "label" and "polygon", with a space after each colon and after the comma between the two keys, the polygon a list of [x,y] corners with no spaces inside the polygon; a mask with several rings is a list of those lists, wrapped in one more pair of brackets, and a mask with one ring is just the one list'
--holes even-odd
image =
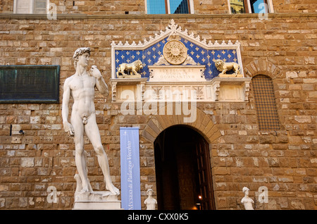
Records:
{"label": "large nude statue's bent leg, nearest the blue banner", "polygon": [[101,143],[101,137],[99,134],[98,125],[96,123],[96,115],[94,113],[89,116],[87,120],[87,124],[85,125],[85,132],[90,142],[92,142],[94,151],[96,151],[99,166],[102,170],[102,173],[104,174],[106,189],[111,191],[111,193],[113,194],[120,194],[119,189],[116,188],[111,181],[108,157]]}

